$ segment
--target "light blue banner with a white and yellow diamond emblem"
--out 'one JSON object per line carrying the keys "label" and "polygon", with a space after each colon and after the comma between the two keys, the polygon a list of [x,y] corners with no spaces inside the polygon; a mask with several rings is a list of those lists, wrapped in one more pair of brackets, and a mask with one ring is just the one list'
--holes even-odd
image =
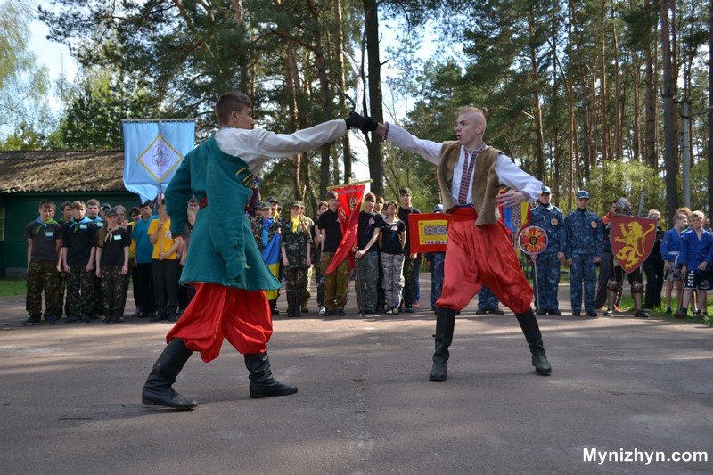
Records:
{"label": "light blue banner with a white and yellow diamond emblem", "polygon": [[141,201],[166,190],[186,153],[195,147],[194,119],[127,119],[124,130],[124,186]]}

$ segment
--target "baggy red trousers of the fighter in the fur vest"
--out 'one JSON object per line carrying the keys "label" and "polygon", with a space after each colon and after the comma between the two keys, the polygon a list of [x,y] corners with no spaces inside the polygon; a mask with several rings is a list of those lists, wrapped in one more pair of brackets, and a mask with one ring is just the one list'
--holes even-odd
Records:
{"label": "baggy red trousers of the fighter in the fur vest", "polygon": [[522,274],[507,228],[500,222],[476,226],[476,218],[471,207],[453,210],[443,292],[436,305],[462,310],[485,284],[505,307],[516,314],[526,312],[533,291]]}

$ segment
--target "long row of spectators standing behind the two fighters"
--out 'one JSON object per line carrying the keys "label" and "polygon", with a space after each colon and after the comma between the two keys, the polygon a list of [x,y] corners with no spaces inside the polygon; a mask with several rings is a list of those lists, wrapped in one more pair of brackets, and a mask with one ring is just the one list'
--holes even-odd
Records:
{"label": "long row of spectators standing behind the two fighters", "polygon": [[[586,316],[597,316],[596,311],[606,303],[609,310],[605,315],[619,312],[621,283],[616,279],[622,277],[614,272],[617,260],[609,239],[617,200],[599,217],[587,208],[589,193],[578,192],[578,208],[565,216],[550,202],[551,196],[550,189],[543,187],[529,223],[543,227],[549,238],[545,253],[532,259],[537,261],[539,277],[537,314],[561,315],[556,296],[564,262],[570,269],[572,315],[581,314],[583,300]],[[401,189],[398,200],[393,201],[367,192],[352,249],[355,269],[350,273],[345,259],[326,274],[343,237],[337,206],[336,193],[328,192],[325,201],[318,203],[314,221],[305,216],[302,201],[292,201],[289,214],[284,215],[282,203],[274,197],[254,207],[250,224],[258,248],[264,250],[275,234],[282,238],[279,276],[285,287],[287,316],[309,312],[313,278],[318,315],[346,315],[352,280],[361,315],[414,313],[420,307],[418,277],[423,260],[430,268],[430,309],[435,312],[445,252],[422,255],[411,250],[408,218],[421,212],[412,205],[411,190]],[[200,203],[192,199],[187,208],[190,231]],[[169,231],[170,217],[160,203],[147,201],[127,213],[122,205],[112,207],[97,200],[66,201],[56,221],[53,201],[40,201],[38,210],[39,216],[25,231],[29,317],[24,325],[42,322],[43,294],[46,323],[58,323],[62,316],[68,324],[100,319],[106,324],[121,323],[130,282],[133,316],[151,322],[180,318],[193,298],[193,289],[179,284],[190,232],[174,239]],[[443,205],[435,204],[433,212],[444,212]],[[642,266],[646,281],[643,308],[636,307],[635,315],[647,316],[651,309],[665,305],[667,315],[684,317],[690,307],[693,315],[707,316],[706,292],[710,291],[713,268],[708,219],[701,211],[679,209],[665,231],[658,210],[652,209],[646,216],[655,220],[656,229],[653,250]],[[642,281],[632,282],[634,298],[636,292],[644,293],[643,289]],[[276,297],[270,299],[270,306],[274,315],[280,313]],[[479,294],[477,313],[503,313],[487,288]]]}

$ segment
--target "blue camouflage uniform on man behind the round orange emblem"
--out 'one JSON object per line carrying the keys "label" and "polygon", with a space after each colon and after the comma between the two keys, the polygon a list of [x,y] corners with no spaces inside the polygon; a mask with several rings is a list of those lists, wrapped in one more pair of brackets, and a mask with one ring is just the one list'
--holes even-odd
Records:
{"label": "blue camouflage uniform on man behind the round orange emblem", "polygon": [[564,252],[567,232],[564,229],[562,210],[550,204],[538,204],[530,211],[530,225],[541,227],[547,233],[547,248],[536,257],[537,291],[535,298],[540,315],[545,312],[559,314],[560,302],[557,287],[560,285],[560,261],[557,253]]}

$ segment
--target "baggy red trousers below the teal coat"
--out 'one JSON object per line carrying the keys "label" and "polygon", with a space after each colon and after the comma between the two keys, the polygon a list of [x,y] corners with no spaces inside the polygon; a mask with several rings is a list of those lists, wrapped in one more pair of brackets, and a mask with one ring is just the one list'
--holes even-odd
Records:
{"label": "baggy red trousers below the teal coat", "polygon": [[195,296],[166,335],[184,340],[208,363],[220,354],[223,339],[242,355],[263,353],[273,334],[264,291],[244,291],[218,283],[193,283]]}

